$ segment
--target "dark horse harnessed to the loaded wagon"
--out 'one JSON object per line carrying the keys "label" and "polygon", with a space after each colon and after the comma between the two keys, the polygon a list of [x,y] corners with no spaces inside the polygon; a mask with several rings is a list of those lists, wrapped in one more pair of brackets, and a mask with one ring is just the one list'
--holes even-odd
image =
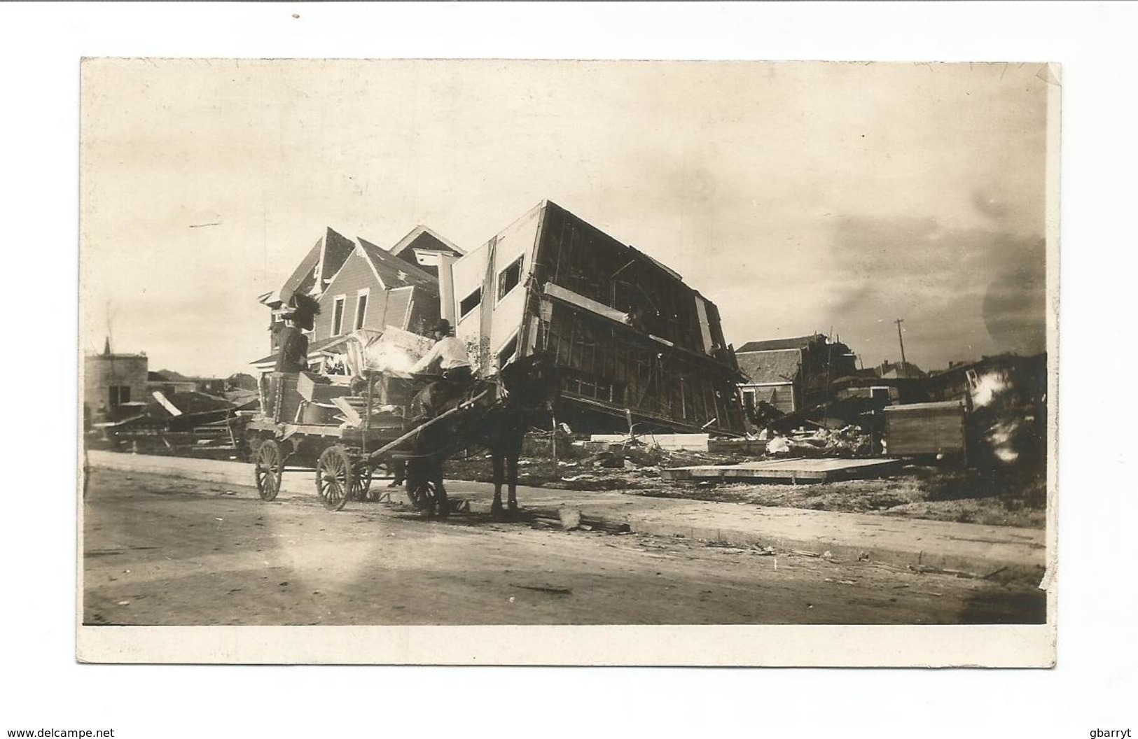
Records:
{"label": "dark horse harnessed to the loaded wagon", "polygon": [[[495,387],[496,385],[496,387]],[[502,518],[506,510],[518,512],[518,458],[522,440],[530,426],[550,417],[560,389],[560,374],[544,354],[521,357],[504,366],[497,382],[476,381],[448,408],[459,407],[486,391],[496,391],[492,404],[468,405],[446,422],[424,426],[407,464],[407,495],[423,500],[428,516],[446,517],[450,513],[446,488],[443,485],[443,460],[469,446],[484,447],[494,465],[494,503],[490,513]],[[502,503],[502,488],[506,503]],[[429,493],[434,493],[430,496]]]}

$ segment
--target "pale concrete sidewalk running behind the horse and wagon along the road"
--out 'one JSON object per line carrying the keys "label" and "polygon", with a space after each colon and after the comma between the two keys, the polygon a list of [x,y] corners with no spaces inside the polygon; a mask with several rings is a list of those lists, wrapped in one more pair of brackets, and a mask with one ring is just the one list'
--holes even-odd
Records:
{"label": "pale concrete sidewalk running behind the horse and wagon along the road", "polygon": [[[253,465],[238,462],[109,451],[91,451],[89,460],[92,467],[253,485]],[[494,491],[489,483],[455,481],[447,483],[447,490],[452,496],[469,499],[473,512],[489,510]],[[314,496],[313,474],[286,474],[281,492]],[[396,492],[396,498],[402,498],[402,492]],[[1000,573],[1034,581],[1042,576],[1046,561],[1045,532],[1037,529],[676,500],[615,491],[520,487],[518,499],[527,512],[539,516],[556,517],[559,510],[569,509],[579,513],[582,523],[587,525],[620,526],[637,533],[740,547],[830,553],[838,561],[861,559],[983,576]],[[349,503],[348,508],[361,505],[368,504]]]}

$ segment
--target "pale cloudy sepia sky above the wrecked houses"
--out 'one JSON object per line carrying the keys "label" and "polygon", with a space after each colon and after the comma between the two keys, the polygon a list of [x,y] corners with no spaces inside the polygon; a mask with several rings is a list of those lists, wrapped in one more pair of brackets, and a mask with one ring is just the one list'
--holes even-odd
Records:
{"label": "pale cloudy sepia sky above the wrecked houses", "polygon": [[[81,347],[248,372],[331,226],[473,249],[543,199],[864,366],[1045,348],[1038,64],[93,59]],[[1052,77],[1053,78],[1053,77]]]}

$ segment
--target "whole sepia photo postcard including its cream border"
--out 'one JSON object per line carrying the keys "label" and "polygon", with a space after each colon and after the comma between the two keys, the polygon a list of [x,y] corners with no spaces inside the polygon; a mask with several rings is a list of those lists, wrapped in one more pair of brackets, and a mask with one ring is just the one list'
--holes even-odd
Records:
{"label": "whole sepia photo postcard including its cream border", "polygon": [[83,60],[79,659],[1054,665],[1059,75]]}

